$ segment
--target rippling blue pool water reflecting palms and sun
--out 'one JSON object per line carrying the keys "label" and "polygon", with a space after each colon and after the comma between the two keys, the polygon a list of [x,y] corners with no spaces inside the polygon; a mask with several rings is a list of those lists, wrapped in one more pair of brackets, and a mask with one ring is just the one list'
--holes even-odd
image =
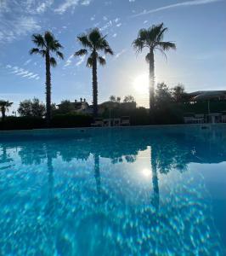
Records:
{"label": "rippling blue pool water reflecting palms and sun", "polygon": [[0,255],[226,255],[226,126],[0,132]]}

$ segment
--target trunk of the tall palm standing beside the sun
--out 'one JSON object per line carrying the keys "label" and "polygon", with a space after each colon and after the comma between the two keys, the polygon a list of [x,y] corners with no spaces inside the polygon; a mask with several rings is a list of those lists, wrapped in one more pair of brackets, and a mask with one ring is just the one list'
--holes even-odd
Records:
{"label": "trunk of the tall palm standing beside the sun", "polygon": [[150,49],[150,113],[155,108],[155,61],[153,49]]}

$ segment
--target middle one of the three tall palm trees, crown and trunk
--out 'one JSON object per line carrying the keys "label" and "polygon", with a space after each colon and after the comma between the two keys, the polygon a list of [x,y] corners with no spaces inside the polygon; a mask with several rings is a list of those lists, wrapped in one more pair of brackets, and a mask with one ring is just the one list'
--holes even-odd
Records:
{"label": "middle one of the three tall palm trees, crown and trunk", "polygon": [[106,40],[98,28],[94,28],[88,33],[83,33],[77,37],[77,40],[82,44],[83,49],[76,51],[75,56],[88,55],[87,67],[93,68],[93,116],[98,115],[98,78],[97,64],[105,66],[105,57],[100,56],[99,52],[104,52],[105,55],[113,55],[113,50],[110,48]]}

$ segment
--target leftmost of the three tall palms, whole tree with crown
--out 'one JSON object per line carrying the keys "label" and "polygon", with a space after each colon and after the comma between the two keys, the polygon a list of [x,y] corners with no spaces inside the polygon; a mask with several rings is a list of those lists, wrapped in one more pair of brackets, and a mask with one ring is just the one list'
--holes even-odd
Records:
{"label": "leftmost of the three tall palms, whole tree with crown", "polygon": [[46,119],[47,124],[50,124],[51,119],[51,73],[50,67],[56,67],[57,61],[51,55],[55,53],[60,59],[64,59],[64,55],[59,51],[63,48],[59,41],[54,38],[51,32],[45,32],[44,35],[33,34],[32,41],[37,45],[37,48],[32,48],[30,54],[42,55],[46,61]]}

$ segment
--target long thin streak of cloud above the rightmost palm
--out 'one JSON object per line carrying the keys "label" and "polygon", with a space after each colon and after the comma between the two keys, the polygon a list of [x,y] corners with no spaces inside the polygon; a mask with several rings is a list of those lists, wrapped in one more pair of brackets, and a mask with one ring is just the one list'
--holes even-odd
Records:
{"label": "long thin streak of cloud above the rightmost palm", "polygon": [[183,3],[174,3],[174,4],[169,4],[160,8],[156,9],[150,9],[150,10],[144,10],[142,13],[139,13],[137,15],[132,15],[132,17],[138,17],[142,15],[150,15],[162,10],[166,9],[174,9],[174,8],[179,8],[179,7],[187,7],[187,6],[194,6],[194,5],[201,5],[201,4],[208,4],[208,3],[218,3],[218,2],[223,2],[225,0],[193,0],[193,1],[186,1]]}

